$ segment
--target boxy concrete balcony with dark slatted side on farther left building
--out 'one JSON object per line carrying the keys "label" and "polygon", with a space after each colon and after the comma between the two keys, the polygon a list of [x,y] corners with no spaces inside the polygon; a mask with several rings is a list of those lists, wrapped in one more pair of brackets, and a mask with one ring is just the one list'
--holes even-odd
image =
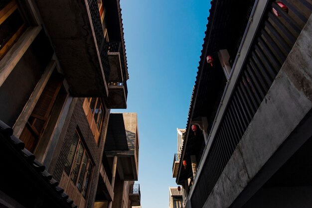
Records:
{"label": "boxy concrete balcony with dark slatted side on farther left building", "polygon": [[110,164],[118,156],[121,180],[138,180],[139,134],[137,113],[111,113],[104,151]]}

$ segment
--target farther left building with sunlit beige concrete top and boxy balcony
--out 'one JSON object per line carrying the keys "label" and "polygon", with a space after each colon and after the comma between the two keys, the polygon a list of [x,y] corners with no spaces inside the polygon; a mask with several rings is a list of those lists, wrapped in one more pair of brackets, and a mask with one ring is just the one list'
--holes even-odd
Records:
{"label": "farther left building with sunlit beige concrete top and boxy balcony", "polygon": [[137,113],[111,113],[98,178],[95,208],[141,205]]}

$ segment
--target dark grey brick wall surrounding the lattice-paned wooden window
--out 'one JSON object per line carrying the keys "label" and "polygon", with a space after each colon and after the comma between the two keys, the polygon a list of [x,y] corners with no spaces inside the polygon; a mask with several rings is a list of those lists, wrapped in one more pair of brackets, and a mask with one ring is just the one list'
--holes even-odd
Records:
{"label": "dark grey brick wall surrounding the lattice-paned wooden window", "polygon": [[[72,117],[70,118],[70,123],[65,134],[64,142],[62,144],[62,148],[54,168],[53,177],[56,180],[60,181],[69,153],[70,145],[72,143],[72,138],[74,136],[75,130],[79,129],[78,131],[81,132],[81,139],[84,142],[84,146],[87,149],[91,160],[94,162],[91,183],[89,184],[88,189],[89,195],[86,202],[86,207],[92,208],[92,203],[95,199],[97,189],[99,164],[102,161],[101,150],[103,150],[103,138],[105,131],[101,131],[99,145],[97,145],[91,132],[87,118],[85,116],[85,112],[82,108],[83,101],[84,98],[78,99]],[[103,129],[106,125],[102,126]]]}

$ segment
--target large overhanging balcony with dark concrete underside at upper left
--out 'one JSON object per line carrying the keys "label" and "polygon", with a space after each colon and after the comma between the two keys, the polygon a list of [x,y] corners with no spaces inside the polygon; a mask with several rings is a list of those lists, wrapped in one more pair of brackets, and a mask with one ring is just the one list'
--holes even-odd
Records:
{"label": "large overhanging balcony with dark concrete underside at upper left", "polygon": [[36,0],[36,3],[70,94],[107,96],[110,65],[97,0]]}

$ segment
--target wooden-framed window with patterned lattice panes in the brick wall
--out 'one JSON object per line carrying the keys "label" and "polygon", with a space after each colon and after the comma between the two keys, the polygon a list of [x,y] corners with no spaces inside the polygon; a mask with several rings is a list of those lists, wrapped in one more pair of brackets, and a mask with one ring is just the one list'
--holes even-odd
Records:
{"label": "wooden-framed window with patterned lattice panes in the brick wall", "polygon": [[84,199],[86,199],[88,192],[92,168],[92,162],[82,144],[81,138],[78,132],[75,131],[64,171]]}

